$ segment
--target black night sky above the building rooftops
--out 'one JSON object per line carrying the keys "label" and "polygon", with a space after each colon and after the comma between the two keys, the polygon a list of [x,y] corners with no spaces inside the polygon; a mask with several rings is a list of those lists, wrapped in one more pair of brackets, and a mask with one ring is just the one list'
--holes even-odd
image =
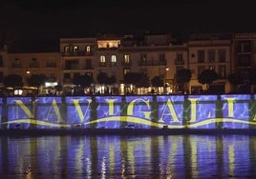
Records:
{"label": "black night sky above the building rooftops", "polygon": [[0,35],[256,31],[253,0],[4,0]]}

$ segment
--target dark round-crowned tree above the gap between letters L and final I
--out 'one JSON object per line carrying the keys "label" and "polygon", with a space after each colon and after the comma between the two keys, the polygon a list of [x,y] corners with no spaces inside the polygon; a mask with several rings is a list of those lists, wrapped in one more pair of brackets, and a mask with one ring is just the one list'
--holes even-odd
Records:
{"label": "dark round-crowned tree above the gap between letters L and final I", "polygon": [[215,80],[218,79],[218,74],[216,73],[215,70],[203,70],[199,76],[198,76],[198,81],[201,84],[206,84],[207,89],[209,89],[209,86],[211,83]]}

